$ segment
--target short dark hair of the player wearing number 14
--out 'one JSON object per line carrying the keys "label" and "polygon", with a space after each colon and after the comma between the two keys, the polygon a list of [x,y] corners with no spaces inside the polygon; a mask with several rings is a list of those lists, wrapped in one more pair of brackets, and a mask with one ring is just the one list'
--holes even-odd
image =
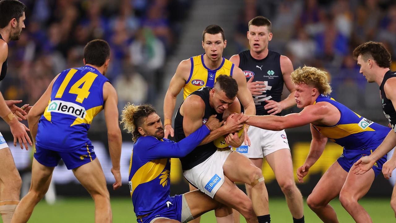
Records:
{"label": "short dark hair of the player wearing number 14", "polygon": [[110,46],[105,40],[92,40],[84,47],[84,59],[88,64],[101,67],[110,57]]}

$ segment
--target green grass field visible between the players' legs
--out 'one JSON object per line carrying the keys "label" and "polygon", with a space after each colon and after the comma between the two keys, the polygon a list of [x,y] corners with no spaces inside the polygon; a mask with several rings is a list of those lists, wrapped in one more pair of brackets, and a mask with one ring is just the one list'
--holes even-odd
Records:
{"label": "green grass field visible between the players' legs", "polygon": [[[364,198],[361,204],[368,210],[373,222],[395,222],[394,214],[389,205],[389,199]],[[350,215],[343,209],[338,200],[333,200],[331,206],[337,212],[341,223],[354,222]],[[128,198],[112,198],[111,206],[114,223],[133,223],[136,217],[133,213],[132,202]],[[305,222],[320,223],[320,219],[305,204]],[[271,222],[289,223],[291,215],[287,209],[286,202],[282,198],[270,198]],[[55,205],[40,202],[33,211],[29,222],[32,223],[91,223],[94,222],[94,204],[89,198],[67,198],[59,199]],[[0,222],[2,220],[0,219]],[[214,223],[213,211],[202,215],[202,223]],[[241,223],[246,222],[241,218]]]}

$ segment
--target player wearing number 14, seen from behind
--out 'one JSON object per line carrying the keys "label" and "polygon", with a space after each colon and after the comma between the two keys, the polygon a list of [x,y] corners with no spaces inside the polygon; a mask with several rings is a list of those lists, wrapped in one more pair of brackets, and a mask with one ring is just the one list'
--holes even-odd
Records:
{"label": "player wearing number 14, seen from behind", "polygon": [[121,186],[121,131],[118,126],[117,93],[104,76],[109,66],[110,47],[104,40],[92,40],[84,48],[84,67],[62,71],[28,115],[36,148],[32,163],[32,183],[12,219],[29,220],[34,206],[51,182],[52,171],[63,160],[95,202],[95,222],[112,222],[105,175],[87,137],[93,117],[105,110],[111,172]]}

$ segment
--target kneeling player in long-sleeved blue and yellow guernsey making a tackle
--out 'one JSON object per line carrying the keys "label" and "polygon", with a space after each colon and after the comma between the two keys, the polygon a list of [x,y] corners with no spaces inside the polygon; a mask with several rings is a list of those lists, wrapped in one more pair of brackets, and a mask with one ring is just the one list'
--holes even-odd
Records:
{"label": "kneeling player in long-sleeved blue and yellow guernsey making a tackle", "polygon": [[[199,190],[169,195],[170,158],[184,157],[209,135],[210,130],[219,128],[221,123],[215,115],[180,142],[164,138],[161,118],[150,104],[128,103],[121,117],[124,129],[133,135],[135,142],[129,165],[129,190],[137,222],[187,222],[214,209],[218,223],[228,222],[227,217],[222,216],[227,215],[227,208]],[[237,123],[239,120],[229,118],[220,128],[241,127]]]}

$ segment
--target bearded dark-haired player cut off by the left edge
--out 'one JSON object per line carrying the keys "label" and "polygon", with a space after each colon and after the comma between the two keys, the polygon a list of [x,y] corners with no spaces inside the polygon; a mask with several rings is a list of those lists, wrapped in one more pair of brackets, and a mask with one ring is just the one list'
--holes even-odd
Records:
{"label": "bearded dark-haired player cut off by the left edge", "polygon": [[[0,81],[6,77],[8,43],[11,40],[18,40],[21,31],[25,28],[25,10],[26,6],[17,0],[0,1]],[[19,108],[15,104],[21,100],[5,101],[0,93],[0,117],[10,125],[10,130],[14,136],[14,146],[17,141],[21,149],[25,144],[26,150],[28,143],[32,142],[26,133],[27,127],[20,123],[26,119],[24,115],[29,112],[28,104]],[[17,117],[15,117],[15,115]],[[19,193],[21,192],[21,177],[15,167],[10,148],[2,134],[0,133],[0,215],[4,223],[10,223],[15,208],[19,203]]]}

